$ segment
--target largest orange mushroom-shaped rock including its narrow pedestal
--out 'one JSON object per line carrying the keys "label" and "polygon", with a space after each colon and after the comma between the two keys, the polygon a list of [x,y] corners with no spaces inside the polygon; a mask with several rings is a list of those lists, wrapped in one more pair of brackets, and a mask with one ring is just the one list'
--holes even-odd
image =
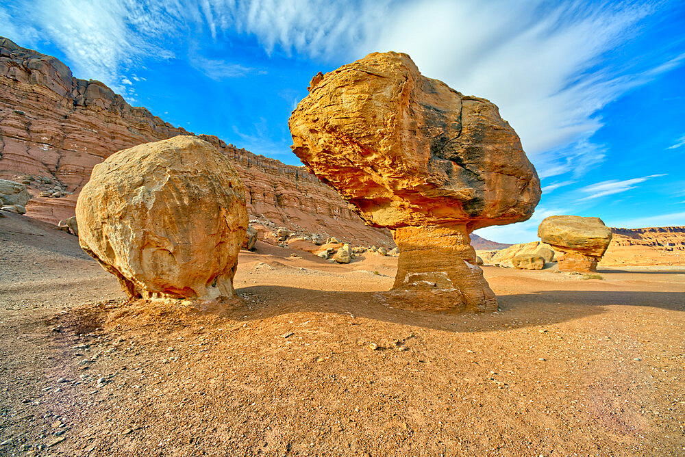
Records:
{"label": "largest orange mushroom-shaped rock including its narrow pedestal", "polygon": [[497,309],[469,234],[530,218],[540,181],[493,103],[423,77],[406,54],[372,53],[312,79],[288,124],[308,170],[393,231],[394,289],[432,309]]}

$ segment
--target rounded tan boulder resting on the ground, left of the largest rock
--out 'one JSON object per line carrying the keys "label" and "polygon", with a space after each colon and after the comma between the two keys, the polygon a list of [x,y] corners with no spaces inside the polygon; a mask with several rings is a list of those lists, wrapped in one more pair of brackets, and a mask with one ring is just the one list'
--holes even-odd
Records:
{"label": "rounded tan boulder resting on the ground, left of the largest rock", "polygon": [[76,205],[81,247],[131,298],[234,296],[245,187],[192,136],[140,144],[93,168]]}

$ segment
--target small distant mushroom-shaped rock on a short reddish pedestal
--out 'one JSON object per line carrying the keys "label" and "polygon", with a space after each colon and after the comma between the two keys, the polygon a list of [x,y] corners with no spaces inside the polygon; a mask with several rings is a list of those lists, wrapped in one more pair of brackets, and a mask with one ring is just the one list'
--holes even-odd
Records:
{"label": "small distant mushroom-shaped rock on a short reddish pedestal", "polygon": [[562,272],[596,272],[611,236],[600,218],[550,216],[538,226],[543,243],[560,252],[557,260]]}

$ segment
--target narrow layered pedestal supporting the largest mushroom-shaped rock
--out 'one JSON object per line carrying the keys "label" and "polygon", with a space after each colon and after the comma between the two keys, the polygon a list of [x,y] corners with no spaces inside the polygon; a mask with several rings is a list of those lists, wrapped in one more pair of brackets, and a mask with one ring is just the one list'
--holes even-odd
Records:
{"label": "narrow layered pedestal supporting the largest mushroom-shaped rock", "polygon": [[497,311],[465,225],[403,227],[393,237],[399,259],[388,297],[403,293],[415,307],[435,311]]}

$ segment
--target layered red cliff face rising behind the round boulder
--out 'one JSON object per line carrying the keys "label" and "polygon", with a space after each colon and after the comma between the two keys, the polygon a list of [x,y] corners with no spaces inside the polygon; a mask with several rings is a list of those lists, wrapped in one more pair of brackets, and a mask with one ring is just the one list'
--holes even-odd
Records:
{"label": "layered red cliff face rising behind the round boulder", "polygon": [[[0,38],[0,179],[25,183],[28,216],[53,224],[73,216],[93,166],[121,149],[176,135],[194,133],[132,107],[99,81],[73,77],[55,57]],[[358,244],[391,242],[388,231],[366,226],[302,167],[198,136],[232,161],[250,218]]]}

